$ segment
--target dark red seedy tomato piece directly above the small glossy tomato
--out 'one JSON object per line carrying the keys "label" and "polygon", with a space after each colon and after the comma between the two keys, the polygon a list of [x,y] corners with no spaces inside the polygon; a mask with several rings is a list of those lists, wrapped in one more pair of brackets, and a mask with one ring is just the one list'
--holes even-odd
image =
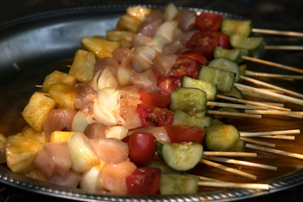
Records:
{"label": "dark red seedy tomato piece directly above the small glossy tomato", "polygon": [[189,57],[178,58],[175,64],[170,68],[168,75],[170,77],[191,77],[198,78],[198,65],[197,62]]}

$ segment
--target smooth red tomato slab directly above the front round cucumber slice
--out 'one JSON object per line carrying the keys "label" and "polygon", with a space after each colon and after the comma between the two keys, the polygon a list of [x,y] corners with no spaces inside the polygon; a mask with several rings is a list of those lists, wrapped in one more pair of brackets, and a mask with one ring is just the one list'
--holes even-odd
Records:
{"label": "smooth red tomato slab directly above the front round cucumber slice", "polygon": [[204,140],[206,130],[189,125],[181,124],[166,124],[164,128],[171,142],[197,142],[202,143]]}

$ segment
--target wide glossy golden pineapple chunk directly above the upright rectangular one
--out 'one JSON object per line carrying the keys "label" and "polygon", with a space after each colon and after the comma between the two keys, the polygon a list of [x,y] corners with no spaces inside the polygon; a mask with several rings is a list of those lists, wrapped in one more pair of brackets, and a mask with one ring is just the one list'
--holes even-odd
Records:
{"label": "wide glossy golden pineapple chunk directly above the upright rectangular one", "polygon": [[107,41],[99,37],[83,37],[81,47],[92,52],[96,58],[113,57],[113,51],[121,46],[121,41]]}

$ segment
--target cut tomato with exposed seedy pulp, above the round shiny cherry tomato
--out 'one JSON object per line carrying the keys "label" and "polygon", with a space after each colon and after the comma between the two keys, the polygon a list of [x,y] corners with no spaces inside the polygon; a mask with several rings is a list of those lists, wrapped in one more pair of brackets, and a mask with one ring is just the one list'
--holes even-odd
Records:
{"label": "cut tomato with exposed seedy pulp, above the round shiny cherry tomato", "polygon": [[174,112],[171,110],[157,108],[146,103],[138,104],[137,111],[144,127],[171,124],[174,119]]}

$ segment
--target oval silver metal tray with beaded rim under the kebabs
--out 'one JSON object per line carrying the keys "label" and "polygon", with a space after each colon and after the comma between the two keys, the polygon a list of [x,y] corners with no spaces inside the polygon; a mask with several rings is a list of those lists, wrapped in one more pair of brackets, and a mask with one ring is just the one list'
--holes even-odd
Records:
{"label": "oval silver metal tray with beaded rim under the kebabs", "polygon": [[[24,108],[31,93],[41,84],[45,75],[53,71],[53,62],[72,58],[80,48],[83,36],[105,35],[106,30],[115,29],[120,16],[130,5],[94,6],[57,10],[6,21],[0,24],[0,132],[15,134],[22,126],[16,117]],[[160,8],[158,5],[146,5]],[[193,8],[196,11],[202,9]],[[241,16],[220,13],[224,17],[241,19]],[[258,28],[269,28],[263,22],[254,22]],[[300,39],[267,37],[270,44],[286,42],[301,43]],[[273,62],[296,67],[303,66],[302,52],[271,51],[267,56]],[[42,68],[43,67],[43,68]],[[262,65],[258,65],[262,68]],[[269,72],[287,73],[269,68]],[[302,92],[302,82],[294,84]],[[228,189],[201,192],[192,195],[115,195],[88,192],[78,188],[66,188],[27,178],[10,171],[5,164],[0,165],[0,182],[27,191],[76,201],[103,202],[227,202],[265,195],[303,184],[303,169],[280,176],[266,183],[269,191],[251,189]]]}

